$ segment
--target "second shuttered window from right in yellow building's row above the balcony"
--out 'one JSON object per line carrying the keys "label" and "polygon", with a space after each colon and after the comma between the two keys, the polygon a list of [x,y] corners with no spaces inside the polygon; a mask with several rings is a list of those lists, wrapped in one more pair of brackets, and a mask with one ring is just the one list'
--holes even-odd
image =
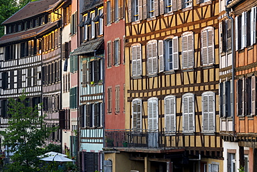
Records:
{"label": "second shuttered window from right in yellow building's row above the balcony", "polygon": [[186,93],[182,96],[183,132],[194,132],[194,94]]}

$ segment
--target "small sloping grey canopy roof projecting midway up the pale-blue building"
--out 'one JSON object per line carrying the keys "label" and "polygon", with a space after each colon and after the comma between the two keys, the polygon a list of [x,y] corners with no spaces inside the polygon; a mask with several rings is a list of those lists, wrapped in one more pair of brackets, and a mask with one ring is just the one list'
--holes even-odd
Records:
{"label": "small sloping grey canopy roof projecting midway up the pale-blue building", "polygon": [[94,40],[89,40],[87,42],[83,42],[81,46],[74,50],[72,55],[82,55],[92,53],[95,50],[99,49],[103,44],[103,37],[96,38]]}

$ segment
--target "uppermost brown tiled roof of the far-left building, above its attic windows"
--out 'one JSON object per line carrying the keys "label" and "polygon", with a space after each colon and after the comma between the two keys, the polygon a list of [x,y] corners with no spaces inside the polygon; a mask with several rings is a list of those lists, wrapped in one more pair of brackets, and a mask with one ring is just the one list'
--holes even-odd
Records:
{"label": "uppermost brown tiled roof of the far-left building, above its attic windows", "polygon": [[40,13],[47,12],[55,8],[61,1],[63,0],[40,0],[30,2],[26,4],[24,8],[18,10],[17,13],[6,19],[2,24],[17,22],[22,19],[39,15]]}

